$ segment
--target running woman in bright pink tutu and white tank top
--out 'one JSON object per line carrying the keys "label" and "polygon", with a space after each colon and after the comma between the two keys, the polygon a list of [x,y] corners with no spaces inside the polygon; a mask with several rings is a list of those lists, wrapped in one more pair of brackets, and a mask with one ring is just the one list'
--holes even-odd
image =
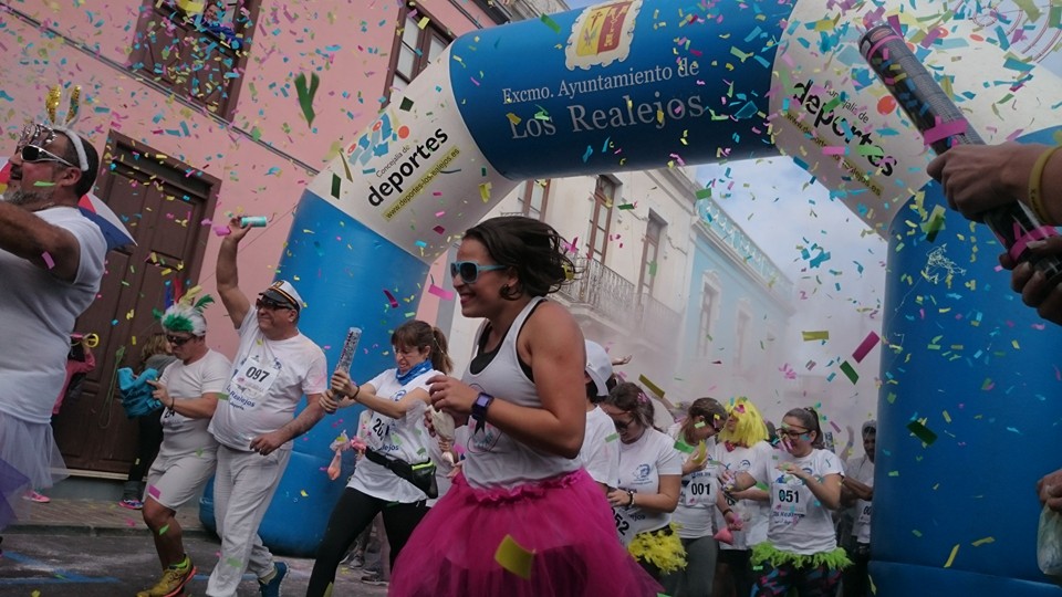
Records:
{"label": "running woman in bright pink tutu and white tank top", "polygon": [[485,322],[465,376],[429,380],[435,408],[468,426],[464,472],[395,563],[392,596],[660,591],[623,549],[576,458],[583,335],[544,298],[573,272],[560,235],[538,220],[493,218],[465,233],[450,273],[461,313]]}

